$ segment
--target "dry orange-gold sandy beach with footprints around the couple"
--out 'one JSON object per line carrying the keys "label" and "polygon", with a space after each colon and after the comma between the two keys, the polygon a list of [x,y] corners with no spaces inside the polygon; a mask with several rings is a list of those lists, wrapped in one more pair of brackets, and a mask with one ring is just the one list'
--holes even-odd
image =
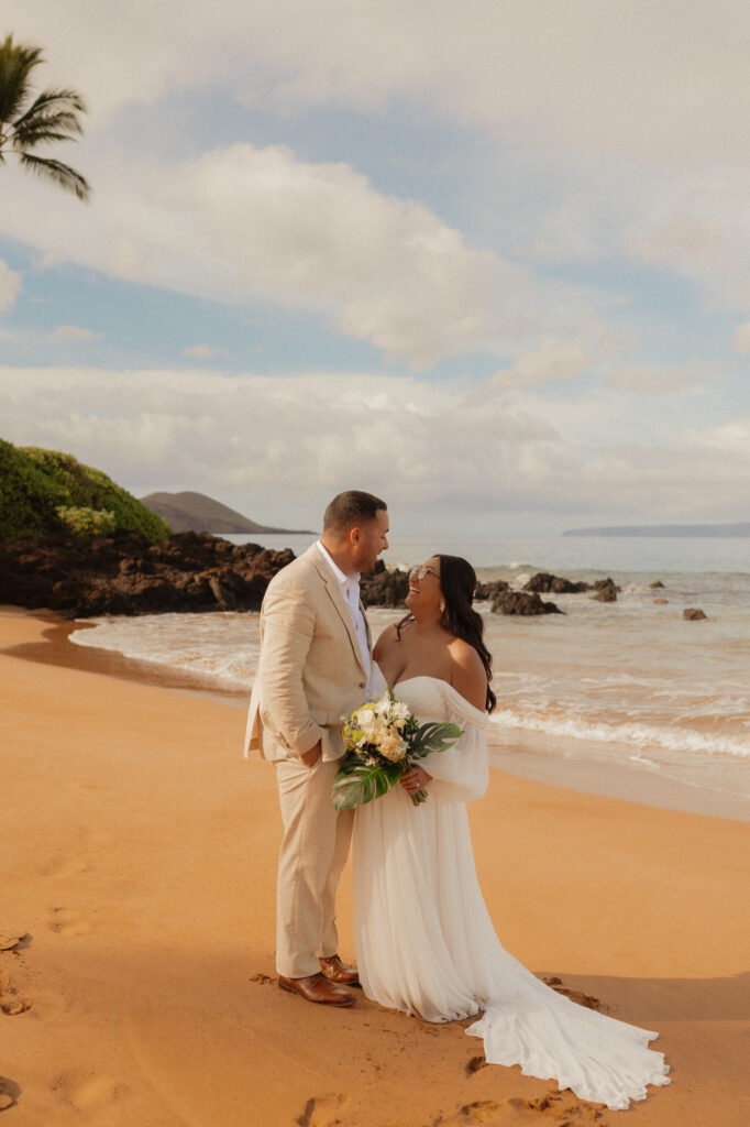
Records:
{"label": "dry orange-gold sandy beach with footprints around the couple", "polygon": [[[242,760],[242,710],[122,663],[73,667],[50,630],[0,612],[3,1125],[750,1122],[745,823],[500,771],[471,808],[508,950],[660,1031],[671,1085],[608,1111],[482,1067],[461,1024],[282,993],[280,819],[273,769]],[[59,664],[28,659],[42,642]],[[348,873],[339,906],[351,959]]]}

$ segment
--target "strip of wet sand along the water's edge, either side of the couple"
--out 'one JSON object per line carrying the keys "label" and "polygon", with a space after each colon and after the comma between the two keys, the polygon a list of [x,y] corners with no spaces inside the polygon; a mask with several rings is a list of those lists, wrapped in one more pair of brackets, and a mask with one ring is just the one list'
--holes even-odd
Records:
{"label": "strip of wet sand along the water's edge, either side of the couple", "polygon": [[[75,630],[95,629],[86,619],[63,619],[53,611],[29,611],[0,606],[0,613],[29,615],[45,623],[38,641],[15,646],[9,656],[42,664],[96,673],[122,681],[177,690],[244,710],[249,689],[217,685],[207,676],[173,666],[126,657],[117,650],[79,646],[69,640]],[[727,781],[722,789],[703,786],[702,769],[685,764],[659,765],[641,757],[618,758],[611,751],[577,740],[580,754],[560,754],[559,740],[539,733],[490,731],[490,763],[493,767],[529,781],[564,787],[583,795],[615,798],[685,814],[750,822],[747,764],[725,764]],[[711,766],[716,770],[717,764]],[[735,784],[736,781],[736,784]]]}

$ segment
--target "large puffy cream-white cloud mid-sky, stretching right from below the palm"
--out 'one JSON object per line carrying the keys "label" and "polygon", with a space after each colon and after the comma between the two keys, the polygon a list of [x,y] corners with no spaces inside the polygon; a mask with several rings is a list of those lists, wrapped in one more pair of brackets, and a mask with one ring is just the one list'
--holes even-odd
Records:
{"label": "large puffy cream-white cloud mid-sky, stretching right from below the palm", "polygon": [[541,321],[523,267],[345,163],[234,144],[176,168],[102,167],[98,185],[90,208],[61,199],[51,211],[38,195],[48,188],[18,181],[16,237],[151,285],[311,309],[416,370],[497,349]]}

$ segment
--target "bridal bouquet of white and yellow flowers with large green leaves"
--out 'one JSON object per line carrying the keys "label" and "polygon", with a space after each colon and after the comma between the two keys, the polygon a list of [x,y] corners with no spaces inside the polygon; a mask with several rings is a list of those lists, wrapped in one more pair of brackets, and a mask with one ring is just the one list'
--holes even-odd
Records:
{"label": "bridal bouquet of white and yellow flowers with large green leaves", "polygon": [[[462,735],[455,724],[422,724],[409,706],[387,689],[361,704],[341,729],[348,754],[333,780],[333,806],[350,810],[387,793],[414,760],[444,752]],[[427,800],[425,788],[411,796],[414,806]]]}

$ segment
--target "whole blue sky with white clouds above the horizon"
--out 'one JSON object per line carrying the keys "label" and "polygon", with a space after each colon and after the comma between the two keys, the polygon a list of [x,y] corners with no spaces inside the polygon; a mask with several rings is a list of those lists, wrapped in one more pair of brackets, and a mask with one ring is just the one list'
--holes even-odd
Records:
{"label": "whole blue sky with white clouds above the horizon", "polygon": [[285,527],[749,518],[745,0],[2,16],[92,196],[0,166],[0,437]]}

